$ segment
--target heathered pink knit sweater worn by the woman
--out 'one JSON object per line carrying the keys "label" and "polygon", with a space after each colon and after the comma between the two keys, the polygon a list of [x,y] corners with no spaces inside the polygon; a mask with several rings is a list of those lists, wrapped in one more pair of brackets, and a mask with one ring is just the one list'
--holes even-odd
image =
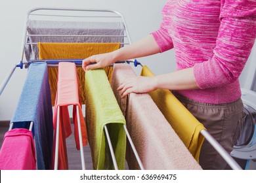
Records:
{"label": "heathered pink knit sweater worn by the woman", "polygon": [[160,29],[152,33],[161,52],[175,48],[177,70],[194,67],[199,90],[179,90],[203,103],[241,97],[238,77],[256,34],[255,0],[169,0]]}

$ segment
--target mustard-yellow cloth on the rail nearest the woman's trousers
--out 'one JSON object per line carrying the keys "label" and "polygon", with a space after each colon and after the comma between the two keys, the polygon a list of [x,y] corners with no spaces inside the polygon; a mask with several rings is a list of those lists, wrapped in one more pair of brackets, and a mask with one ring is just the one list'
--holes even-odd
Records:
{"label": "mustard-yellow cloth on the rail nearest the woman's trousers", "polygon": [[[154,76],[154,73],[144,65],[140,75]],[[205,129],[203,124],[198,122],[169,90],[159,89],[149,94],[190,153],[198,161],[204,140],[200,133],[202,129]]]}

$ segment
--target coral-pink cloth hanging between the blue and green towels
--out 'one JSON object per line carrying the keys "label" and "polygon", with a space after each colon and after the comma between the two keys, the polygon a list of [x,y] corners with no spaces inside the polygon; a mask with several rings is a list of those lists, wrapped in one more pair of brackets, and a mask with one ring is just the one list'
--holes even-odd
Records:
{"label": "coral-pink cloth hanging between the blue and green towels", "polygon": [[[68,106],[73,105],[73,120],[74,120],[74,135],[75,144],[77,150],[79,146],[79,135],[77,126],[77,112],[81,123],[81,133],[83,146],[87,144],[87,130],[85,126],[85,120],[83,118],[83,112],[81,110],[81,100],[79,99],[79,83],[77,78],[77,70],[75,63],[60,62],[58,64],[58,84],[56,92],[56,101],[53,114],[53,127],[56,131],[57,112],[60,107],[60,138],[59,138],[59,150],[58,150],[58,169],[68,169],[68,156],[66,152],[66,138],[72,134],[72,128],[70,124],[70,116],[68,113]],[[79,107],[79,111],[76,107]],[[56,133],[54,133],[54,145],[53,145],[53,158],[55,155],[55,142]],[[54,161],[53,161],[54,163]]]}

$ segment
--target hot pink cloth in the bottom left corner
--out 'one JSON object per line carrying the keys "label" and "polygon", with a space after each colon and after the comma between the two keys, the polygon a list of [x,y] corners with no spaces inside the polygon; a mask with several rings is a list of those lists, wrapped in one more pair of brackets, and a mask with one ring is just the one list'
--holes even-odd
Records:
{"label": "hot pink cloth in the bottom left corner", "polygon": [[0,150],[0,169],[35,170],[35,163],[32,132],[24,128],[7,131]]}

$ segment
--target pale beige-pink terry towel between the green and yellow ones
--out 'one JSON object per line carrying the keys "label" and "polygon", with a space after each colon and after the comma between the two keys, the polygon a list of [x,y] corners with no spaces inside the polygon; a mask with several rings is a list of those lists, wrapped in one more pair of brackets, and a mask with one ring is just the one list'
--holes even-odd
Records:
{"label": "pale beige-pink terry towel between the green and yellow ones", "polygon": [[[136,75],[127,63],[114,64],[111,85],[144,169],[202,169],[150,95],[131,93],[121,99],[117,87],[133,76]],[[140,169],[130,147],[126,159],[129,169]]]}

